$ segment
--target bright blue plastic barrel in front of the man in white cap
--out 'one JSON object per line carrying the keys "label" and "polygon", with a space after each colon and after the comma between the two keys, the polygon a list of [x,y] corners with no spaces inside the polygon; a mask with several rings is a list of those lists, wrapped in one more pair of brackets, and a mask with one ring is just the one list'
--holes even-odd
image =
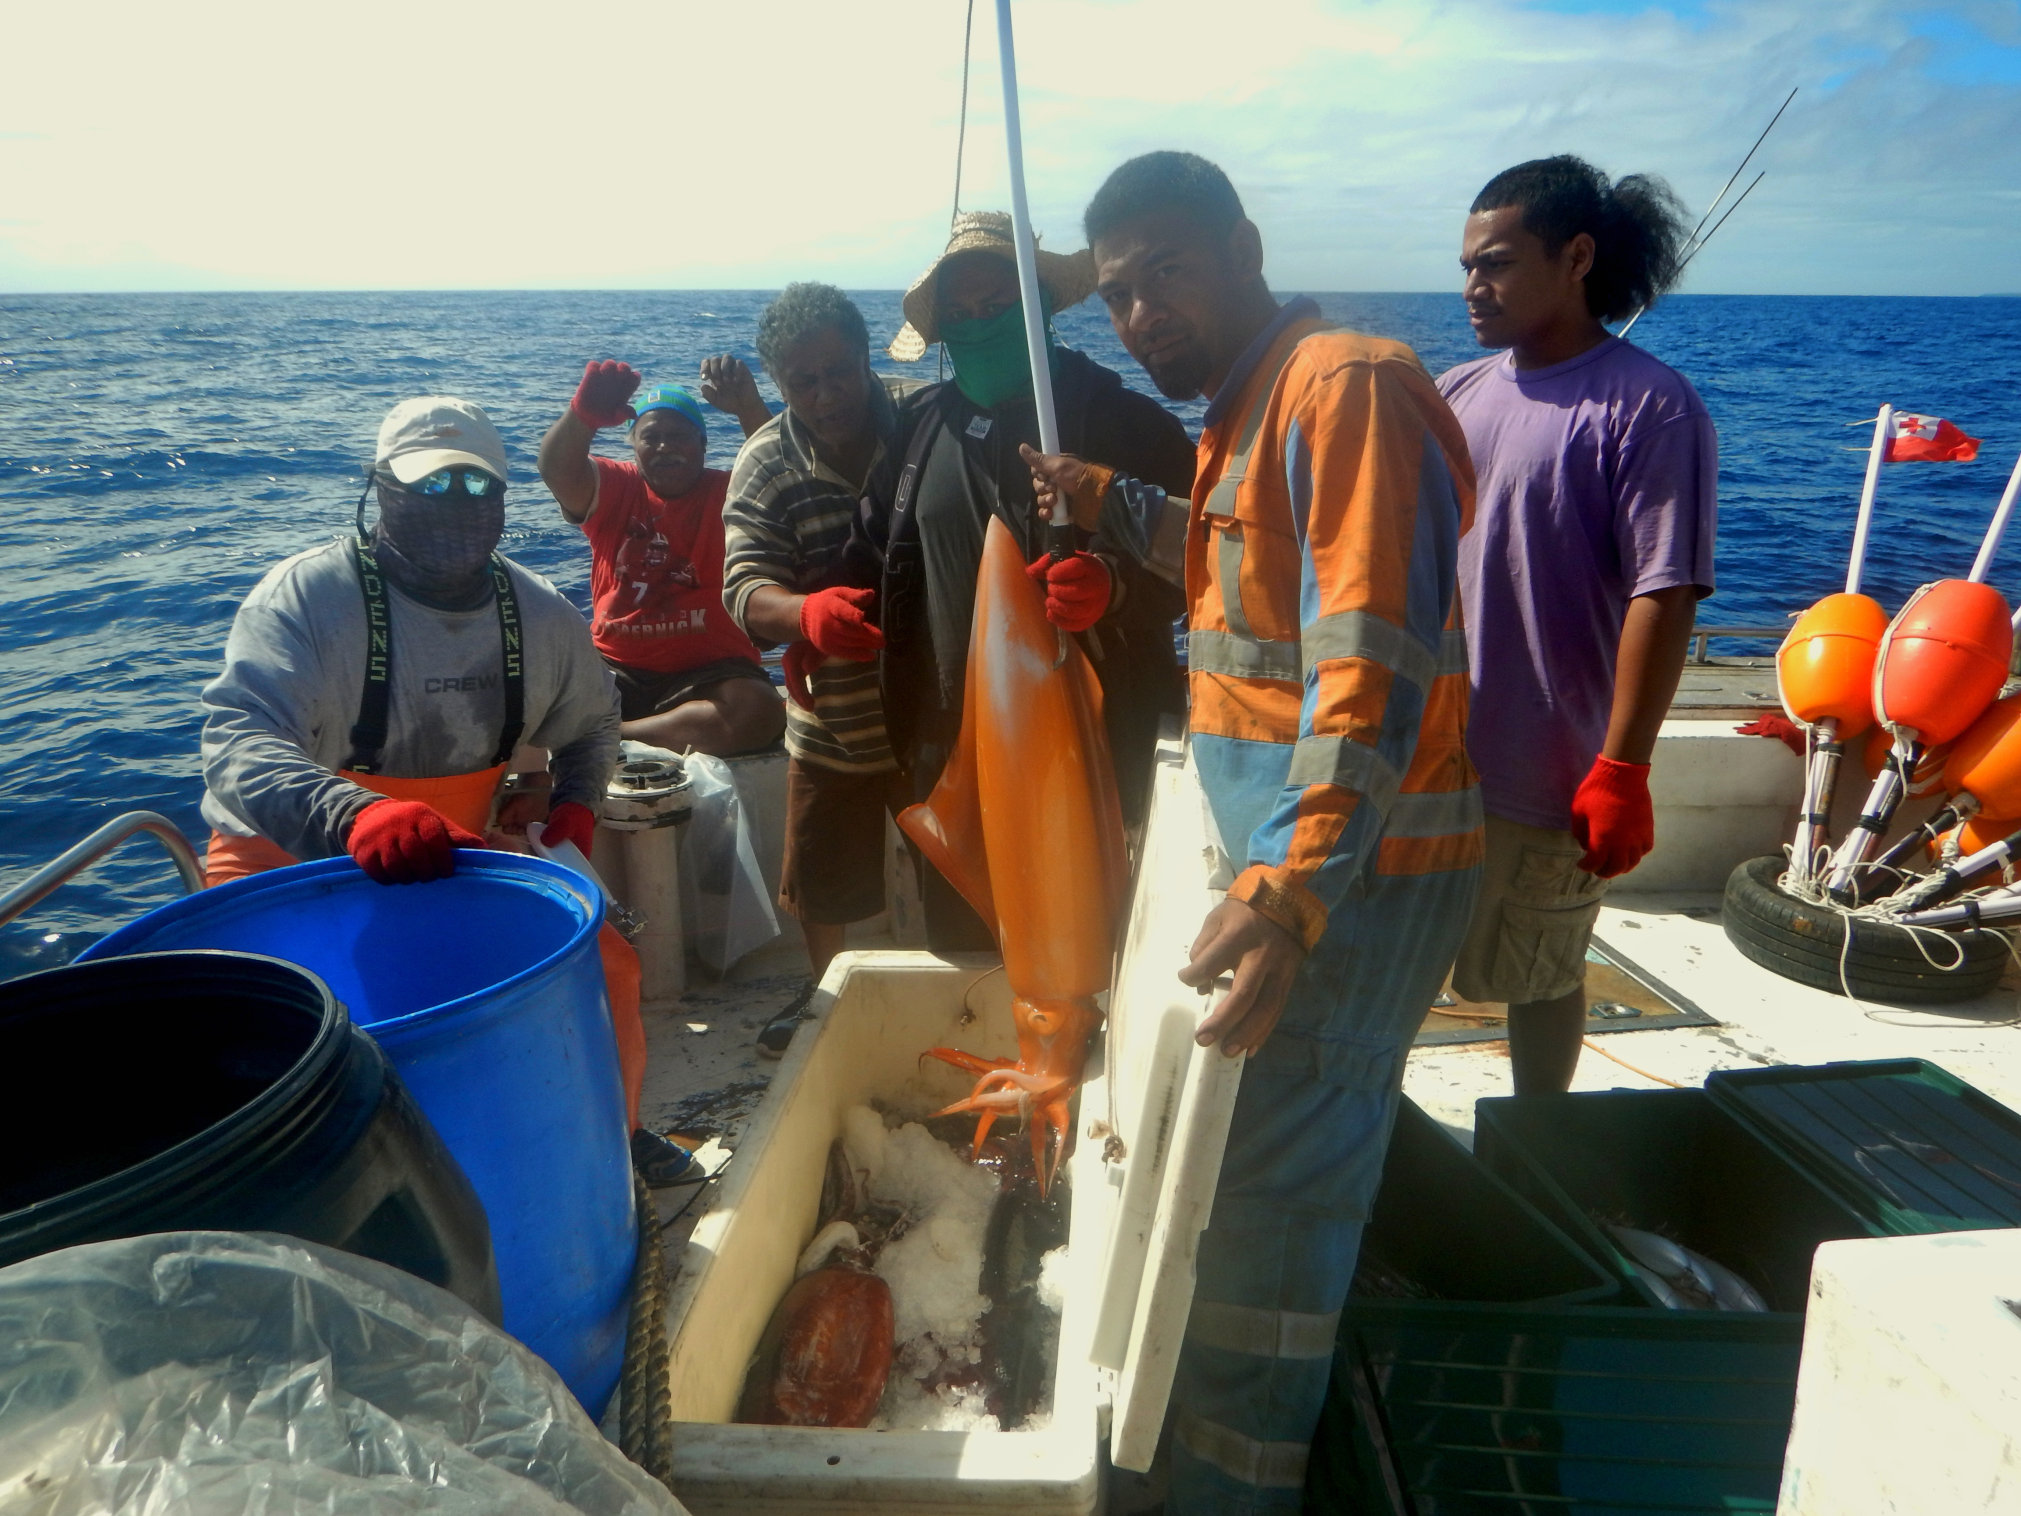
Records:
{"label": "bright blue plastic barrel in front of the man in white cap", "polygon": [[329,984],[485,1203],[505,1330],[600,1419],[639,1247],[600,926],[588,885],[542,859],[461,851],[424,885],[325,859],[186,895],[83,958],[230,948]]}

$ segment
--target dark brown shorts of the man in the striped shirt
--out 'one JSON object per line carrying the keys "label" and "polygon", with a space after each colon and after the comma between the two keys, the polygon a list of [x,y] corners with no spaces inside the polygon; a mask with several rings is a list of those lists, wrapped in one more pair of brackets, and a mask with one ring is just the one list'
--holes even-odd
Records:
{"label": "dark brown shorts of the man in the striped shirt", "polygon": [[786,861],[778,904],[816,926],[847,926],[883,910],[887,815],[911,804],[895,770],[851,774],[786,760]]}

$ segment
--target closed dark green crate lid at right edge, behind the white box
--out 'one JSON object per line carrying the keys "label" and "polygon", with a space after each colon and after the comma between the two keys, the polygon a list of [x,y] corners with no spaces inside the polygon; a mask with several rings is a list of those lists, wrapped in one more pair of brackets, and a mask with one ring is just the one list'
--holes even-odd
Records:
{"label": "closed dark green crate lid at right edge, behind the white box", "polygon": [[2021,1116],[1934,1063],[1732,1069],[1706,1089],[1884,1235],[2021,1225]]}

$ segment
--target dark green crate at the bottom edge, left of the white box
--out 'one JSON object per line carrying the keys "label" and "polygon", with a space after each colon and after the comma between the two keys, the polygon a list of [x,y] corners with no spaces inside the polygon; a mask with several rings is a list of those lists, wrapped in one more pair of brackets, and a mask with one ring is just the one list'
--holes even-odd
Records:
{"label": "dark green crate at the bottom edge, left of the white box", "polygon": [[1772,1512],[1795,1316],[1354,1302],[1306,1510]]}

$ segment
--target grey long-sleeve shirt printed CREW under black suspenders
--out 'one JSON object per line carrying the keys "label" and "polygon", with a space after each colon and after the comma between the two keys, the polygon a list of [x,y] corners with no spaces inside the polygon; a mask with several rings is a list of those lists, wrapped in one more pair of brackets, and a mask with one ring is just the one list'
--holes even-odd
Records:
{"label": "grey long-sleeve shirt printed CREW under black suspenders", "polygon": [[[525,639],[525,730],[548,748],[554,802],[600,809],[618,758],[618,699],[582,614],[511,564]],[[388,588],[392,699],[380,772],[489,768],[505,722],[493,600],[432,610]],[[350,758],[366,677],[366,606],[348,542],[277,564],[238,606],[224,673],[204,689],[204,821],[299,859],[335,857],[380,798],[335,770]]]}

